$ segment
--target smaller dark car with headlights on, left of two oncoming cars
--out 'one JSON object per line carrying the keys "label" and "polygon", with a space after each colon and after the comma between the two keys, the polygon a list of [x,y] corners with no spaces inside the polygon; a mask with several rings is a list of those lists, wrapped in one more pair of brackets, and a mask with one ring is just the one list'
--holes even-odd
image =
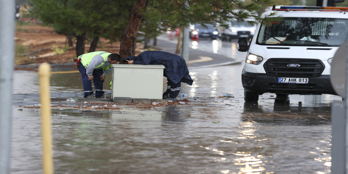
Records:
{"label": "smaller dark car with headlights on, left of two oncoming cars", "polygon": [[194,25],[194,28],[191,28],[191,39],[197,39],[197,36],[198,38],[218,39],[218,27],[210,24],[205,25],[207,27],[203,27],[201,24]]}

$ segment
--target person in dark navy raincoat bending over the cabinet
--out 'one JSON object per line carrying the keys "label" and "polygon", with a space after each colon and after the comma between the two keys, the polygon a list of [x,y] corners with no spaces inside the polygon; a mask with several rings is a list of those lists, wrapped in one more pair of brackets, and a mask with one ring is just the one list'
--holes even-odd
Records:
{"label": "person in dark navy raincoat bending over the cabinet", "polygon": [[176,100],[180,92],[181,82],[192,85],[193,80],[188,74],[185,60],[177,55],[161,51],[145,51],[138,56],[130,56],[122,59],[128,64],[155,64],[164,65],[164,76],[167,77],[167,91],[163,94],[163,99]]}

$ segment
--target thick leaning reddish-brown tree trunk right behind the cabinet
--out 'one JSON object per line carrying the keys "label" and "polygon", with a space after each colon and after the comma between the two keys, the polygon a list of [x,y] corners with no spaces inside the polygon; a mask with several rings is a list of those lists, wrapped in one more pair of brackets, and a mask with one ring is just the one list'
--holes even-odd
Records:
{"label": "thick leaning reddish-brown tree trunk right behind the cabinet", "polygon": [[119,55],[121,58],[135,55],[136,37],[138,36],[139,25],[145,11],[147,0],[135,0],[132,11],[129,14],[128,24],[120,36],[121,44]]}

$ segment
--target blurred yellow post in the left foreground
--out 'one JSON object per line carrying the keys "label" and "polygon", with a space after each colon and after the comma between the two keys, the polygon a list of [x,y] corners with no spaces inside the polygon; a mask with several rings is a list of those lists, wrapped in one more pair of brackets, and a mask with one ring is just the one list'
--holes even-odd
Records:
{"label": "blurred yellow post in the left foreground", "polygon": [[42,63],[39,67],[40,77],[40,101],[41,101],[41,127],[42,127],[42,148],[44,174],[53,174],[52,155],[52,129],[51,129],[51,97],[50,77],[51,66],[49,63]]}

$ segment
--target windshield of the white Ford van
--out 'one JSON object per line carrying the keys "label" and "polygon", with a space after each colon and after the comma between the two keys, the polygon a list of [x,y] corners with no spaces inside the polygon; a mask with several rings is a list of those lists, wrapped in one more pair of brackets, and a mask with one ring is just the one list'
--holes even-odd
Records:
{"label": "windshield of the white Ford van", "polygon": [[261,25],[257,44],[339,47],[347,41],[348,19],[286,17]]}

